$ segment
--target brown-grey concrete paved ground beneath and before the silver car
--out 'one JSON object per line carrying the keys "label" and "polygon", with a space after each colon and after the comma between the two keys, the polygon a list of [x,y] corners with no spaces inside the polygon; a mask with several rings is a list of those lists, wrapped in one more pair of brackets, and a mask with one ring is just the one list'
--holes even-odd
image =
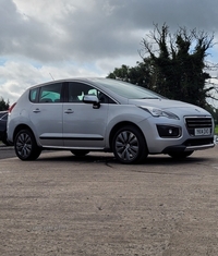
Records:
{"label": "brown-grey concrete paved ground beneath and before the silver car", "polygon": [[110,154],[0,160],[1,256],[217,256],[218,148],[124,166]]}

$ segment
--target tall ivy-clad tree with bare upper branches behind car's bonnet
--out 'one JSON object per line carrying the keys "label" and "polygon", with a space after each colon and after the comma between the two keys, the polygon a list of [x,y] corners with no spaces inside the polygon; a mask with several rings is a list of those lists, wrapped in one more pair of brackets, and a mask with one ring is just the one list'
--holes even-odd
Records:
{"label": "tall ivy-clad tree with bare upper branches behind car's bonnet", "polygon": [[[205,58],[214,46],[213,40],[214,35],[205,32],[179,28],[172,36],[166,24],[160,29],[155,25],[154,32],[142,41],[144,54],[149,56],[156,70],[155,89],[169,98],[205,108],[206,98],[213,97],[210,92],[215,89],[214,86],[205,86],[210,77],[205,72],[208,68]],[[153,50],[154,44],[156,51]]]}

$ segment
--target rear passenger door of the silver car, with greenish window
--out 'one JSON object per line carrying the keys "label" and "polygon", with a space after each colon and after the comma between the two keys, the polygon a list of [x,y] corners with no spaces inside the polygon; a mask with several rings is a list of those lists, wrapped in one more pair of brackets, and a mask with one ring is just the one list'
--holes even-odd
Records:
{"label": "rear passenger door of the silver car, with greenish window", "polygon": [[63,146],[62,83],[51,83],[31,92],[31,121],[44,146]]}

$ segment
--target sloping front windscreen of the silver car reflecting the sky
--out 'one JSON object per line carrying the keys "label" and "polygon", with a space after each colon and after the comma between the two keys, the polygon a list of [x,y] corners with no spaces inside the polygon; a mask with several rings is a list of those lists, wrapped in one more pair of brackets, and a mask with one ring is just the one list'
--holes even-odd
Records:
{"label": "sloping front windscreen of the silver car reflecting the sky", "polygon": [[128,99],[164,98],[161,95],[158,95],[149,89],[122,81],[109,80],[109,78],[96,78],[95,82],[104,85],[104,87]]}

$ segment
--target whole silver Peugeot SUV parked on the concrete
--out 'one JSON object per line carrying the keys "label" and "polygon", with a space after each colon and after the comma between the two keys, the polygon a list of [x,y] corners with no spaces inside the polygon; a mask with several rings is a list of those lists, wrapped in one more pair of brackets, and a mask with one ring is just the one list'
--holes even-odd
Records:
{"label": "whole silver Peugeot SUV parked on the concrete", "polygon": [[148,154],[184,158],[214,147],[214,121],[204,109],[108,78],[53,81],[28,88],[11,108],[8,139],[21,160],[45,148],[75,156],[112,151],[123,163]]}

